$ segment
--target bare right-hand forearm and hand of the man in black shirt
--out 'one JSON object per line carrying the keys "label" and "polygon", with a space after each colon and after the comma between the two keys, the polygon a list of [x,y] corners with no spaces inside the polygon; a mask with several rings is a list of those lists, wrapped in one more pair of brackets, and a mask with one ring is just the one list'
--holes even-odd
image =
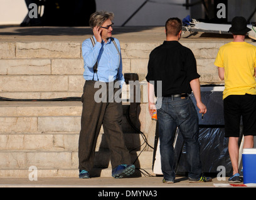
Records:
{"label": "bare right-hand forearm and hand of the man in black shirt", "polygon": [[205,114],[207,109],[205,104],[201,101],[200,81],[199,79],[193,79],[190,81],[191,89],[196,99],[196,106],[199,108],[199,113]]}

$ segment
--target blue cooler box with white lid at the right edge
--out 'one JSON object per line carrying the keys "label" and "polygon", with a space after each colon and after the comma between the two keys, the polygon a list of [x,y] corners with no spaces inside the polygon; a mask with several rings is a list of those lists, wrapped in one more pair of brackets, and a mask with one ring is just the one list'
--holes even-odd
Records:
{"label": "blue cooler box with white lid at the right edge", "polygon": [[243,149],[243,183],[256,183],[256,148]]}

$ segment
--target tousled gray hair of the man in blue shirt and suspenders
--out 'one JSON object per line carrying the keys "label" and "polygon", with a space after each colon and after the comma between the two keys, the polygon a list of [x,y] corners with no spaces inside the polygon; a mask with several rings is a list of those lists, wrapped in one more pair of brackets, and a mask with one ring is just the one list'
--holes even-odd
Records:
{"label": "tousled gray hair of the man in blue shirt and suspenders", "polygon": [[97,11],[94,12],[90,16],[89,24],[90,27],[95,27],[95,26],[102,26],[104,22],[110,19],[111,21],[114,19],[114,13],[113,12],[107,12],[107,11]]}

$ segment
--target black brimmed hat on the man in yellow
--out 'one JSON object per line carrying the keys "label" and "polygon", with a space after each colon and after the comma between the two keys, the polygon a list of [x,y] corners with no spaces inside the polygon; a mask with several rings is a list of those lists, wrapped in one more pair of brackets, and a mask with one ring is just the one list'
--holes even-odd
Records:
{"label": "black brimmed hat on the man in yellow", "polygon": [[245,35],[252,30],[247,27],[245,17],[233,17],[231,25],[228,32],[232,32],[234,35]]}

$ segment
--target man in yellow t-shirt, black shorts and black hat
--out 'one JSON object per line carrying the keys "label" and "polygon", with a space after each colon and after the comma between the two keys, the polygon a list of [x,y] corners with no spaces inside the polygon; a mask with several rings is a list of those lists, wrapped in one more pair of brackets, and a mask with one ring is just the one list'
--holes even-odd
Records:
{"label": "man in yellow t-shirt, black shorts and black hat", "polygon": [[220,47],[215,59],[218,76],[225,80],[223,109],[225,137],[229,138],[228,152],[233,168],[233,176],[228,181],[242,182],[238,172],[240,119],[242,116],[243,148],[253,148],[256,135],[256,47],[245,42],[250,29],[244,17],[234,17],[229,32],[233,41]]}

